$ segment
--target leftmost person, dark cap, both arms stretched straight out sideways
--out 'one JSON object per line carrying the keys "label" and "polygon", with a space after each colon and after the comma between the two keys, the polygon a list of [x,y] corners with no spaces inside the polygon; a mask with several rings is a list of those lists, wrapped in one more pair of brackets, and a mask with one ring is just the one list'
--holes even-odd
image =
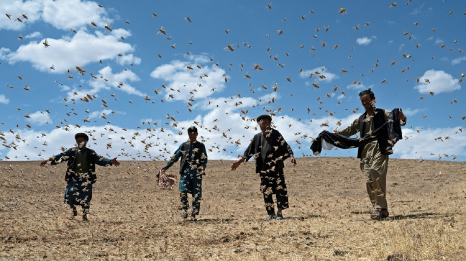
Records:
{"label": "leftmost person, dark cap, both arms stretched straight out sideways", "polygon": [[73,219],[78,215],[76,205],[82,208],[82,220],[87,221],[89,205],[92,199],[92,184],[96,182],[95,174],[96,164],[100,166],[119,166],[120,163],[114,159],[107,159],[96,154],[90,148],[86,148],[89,137],[85,133],[75,135],[78,146],[65,150],[64,152],[51,157],[40,163],[40,166],[57,165],[58,163],[68,162],[66,169],[65,181],[65,203],[70,205],[73,210],[70,218]]}

